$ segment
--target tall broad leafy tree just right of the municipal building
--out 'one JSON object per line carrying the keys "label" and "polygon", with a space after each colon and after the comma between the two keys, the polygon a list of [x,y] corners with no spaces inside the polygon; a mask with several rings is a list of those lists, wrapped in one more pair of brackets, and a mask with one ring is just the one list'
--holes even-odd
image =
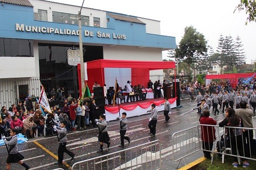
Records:
{"label": "tall broad leafy tree just right of the municipal building", "polygon": [[[182,59],[187,64],[188,75],[190,75],[190,65],[195,63],[194,54],[204,55],[207,52],[207,41],[204,35],[199,33],[193,26],[186,27],[179,48],[176,48],[177,58]],[[190,77],[188,78],[190,82]]]}

